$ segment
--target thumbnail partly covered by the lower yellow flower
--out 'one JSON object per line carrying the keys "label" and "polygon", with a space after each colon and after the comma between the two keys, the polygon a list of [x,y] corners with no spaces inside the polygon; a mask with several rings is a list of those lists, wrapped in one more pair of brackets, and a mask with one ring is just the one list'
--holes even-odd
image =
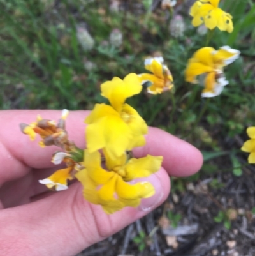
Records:
{"label": "thumbnail partly covered by the lower yellow flower", "polygon": [[[143,179],[143,181],[145,180]],[[138,206],[138,211],[152,211],[152,209],[154,209],[159,204],[159,202],[161,202],[164,196],[162,184],[159,177],[157,176],[157,173],[152,174],[146,179],[146,181],[154,186],[155,194],[152,195],[152,197],[142,199],[140,206]]]}

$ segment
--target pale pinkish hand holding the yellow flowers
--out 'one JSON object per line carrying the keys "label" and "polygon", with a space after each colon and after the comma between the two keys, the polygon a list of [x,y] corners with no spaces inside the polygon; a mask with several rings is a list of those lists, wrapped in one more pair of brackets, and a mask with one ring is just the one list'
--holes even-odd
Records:
{"label": "pale pinkish hand holding the yellow flowers", "polygon": [[[163,167],[154,176],[161,184],[161,197],[149,202],[149,210],[126,207],[106,215],[82,197],[82,185],[49,192],[38,179],[56,167],[50,162],[58,148],[42,149],[20,132],[19,123],[31,123],[36,115],[57,120],[57,110],[6,110],[0,112],[0,248],[4,256],[71,256],[118,232],[162,204],[170,192],[168,176],[186,177],[197,172],[203,158],[187,142],[158,128],[150,128],[147,145],[133,152],[136,157],[163,156]],[[89,112],[70,112],[66,120],[69,139],[84,148],[84,119]],[[59,169],[59,167],[57,167]],[[155,199],[154,199],[155,200]],[[148,202],[147,202],[148,203]]]}

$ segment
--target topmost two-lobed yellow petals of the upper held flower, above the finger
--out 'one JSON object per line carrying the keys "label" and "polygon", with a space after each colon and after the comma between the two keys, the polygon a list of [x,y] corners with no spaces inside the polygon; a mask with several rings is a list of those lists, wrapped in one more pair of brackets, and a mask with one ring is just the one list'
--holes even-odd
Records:
{"label": "topmost two-lobed yellow petals of the upper held flower, above the finger", "polygon": [[130,73],[123,80],[115,77],[112,81],[101,84],[101,91],[101,95],[108,98],[112,107],[120,111],[126,98],[140,93],[142,86],[138,75]]}

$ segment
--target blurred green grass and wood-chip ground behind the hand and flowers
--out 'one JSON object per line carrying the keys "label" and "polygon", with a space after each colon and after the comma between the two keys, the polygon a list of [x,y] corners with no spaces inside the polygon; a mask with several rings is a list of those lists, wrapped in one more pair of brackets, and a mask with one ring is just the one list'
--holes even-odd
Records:
{"label": "blurred green grass and wood-chip ground behind the hand and flowers", "polygon": [[144,90],[128,103],[203,152],[202,170],[173,177],[163,206],[80,256],[255,255],[255,167],[240,151],[255,123],[255,1],[220,2],[235,29],[215,29],[210,46],[230,45],[241,57],[199,119],[202,87],[185,82],[184,70],[208,31],[191,25],[193,0],[173,2],[0,0],[0,109],[92,109],[106,102],[102,82],[143,73],[146,57],[163,56],[175,89]]}

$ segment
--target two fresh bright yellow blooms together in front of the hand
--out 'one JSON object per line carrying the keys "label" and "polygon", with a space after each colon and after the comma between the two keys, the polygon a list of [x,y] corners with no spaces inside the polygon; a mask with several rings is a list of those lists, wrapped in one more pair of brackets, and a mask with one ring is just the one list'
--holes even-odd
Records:
{"label": "two fresh bright yellow blooms together in front of the hand", "polygon": [[[162,156],[132,158],[129,152],[145,145],[148,128],[133,107],[125,103],[142,91],[138,75],[130,73],[123,80],[114,77],[101,84],[101,95],[110,105],[96,104],[85,119],[87,149],[84,151],[84,169],[76,174],[84,185],[84,197],[92,204],[100,204],[106,213],[126,206],[137,207],[142,198],[154,195],[148,182],[135,182],[148,177],[161,166]],[[102,167],[101,154],[105,159]]]}

